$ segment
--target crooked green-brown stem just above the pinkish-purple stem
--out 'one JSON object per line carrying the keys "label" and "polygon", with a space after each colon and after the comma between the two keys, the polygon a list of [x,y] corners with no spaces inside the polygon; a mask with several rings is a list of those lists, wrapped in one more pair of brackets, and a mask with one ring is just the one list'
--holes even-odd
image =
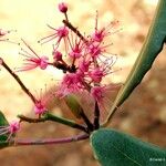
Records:
{"label": "crooked green-brown stem just above the pinkish-purple stem", "polygon": [[70,121],[68,118],[63,118],[63,117],[59,117],[59,116],[52,115],[50,113],[44,114],[40,118],[30,118],[30,117],[27,117],[24,115],[18,115],[18,117],[21,121],[29,122],[29,123],[41,123],[41,122],[45,122],[45,121],[53,121],[53,122],[58,122],[58,123],[61,123],[63,125],[70,126],[72,128],[76,128],[76,129],[83,131],[85,133],[89,133],[87,128],[85,126],[83,126],[81,124],[77,124],[77,123],[75,123],[73,121]]}

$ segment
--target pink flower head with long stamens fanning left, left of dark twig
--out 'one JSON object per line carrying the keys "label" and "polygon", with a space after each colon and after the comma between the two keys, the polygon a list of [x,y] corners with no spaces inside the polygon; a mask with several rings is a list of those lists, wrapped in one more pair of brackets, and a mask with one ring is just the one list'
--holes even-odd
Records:
{"label": "pink flower head with long stamens fanning left, left of dark twig", "polygon": [[[23,40],[22,40],[23,41]],[[24,42],[24,41],[23,41]],[[41,70],[45,70],[46,66],[49,65],[49,58],[45,55],[39,56],[31,48],[30,45],[28,45],[25,42],[24,44],[30,49],[31,53],[29,53],[28,51],[23,50],[22,54],[23,56],[25,56],[24,59],[24,63],[22,68],[19,68],[18,71],[29,71],[29,70],[33,70],[35,68],[40,68]]]}

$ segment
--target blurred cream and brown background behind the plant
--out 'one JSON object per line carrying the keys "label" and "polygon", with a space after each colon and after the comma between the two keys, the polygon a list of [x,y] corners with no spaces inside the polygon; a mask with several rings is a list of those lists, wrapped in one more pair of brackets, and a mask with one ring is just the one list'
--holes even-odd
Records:
{"label": "blurred cream and brown background behind the plant", "polygon": [[[46,23],[61,25],[63,15],[58,11],[58,0],[0,0],[0,28],[17,30],[8,35],[10,41],[23,38],[39,54],[51,56],[51,44],[41,46],[38,40],[50,34]],[[95,11],[98,11],[98,27],[118,20],[122,30],[111,37],[111,52],[118,55],[116,68],[122,69],[111,75],[114,82],[124,82],[143,45],[154,15],[157,0],[66,0],[71,22],[83,32],[94,30]],[[11,68],[22,64],[20,45],[0,42],[0,56]],[[143,83],[133,92],[114,116],[110,127],[117,128],[143,141],[166,147],[166,48],[162,51]],[[8,120],[18,113],[31,115],[32,103],[15,81],[0,68],[0,110]],[[40,75],[40,76],[39,76]],[[35,94],[60,80],[56,70],[34,70],[19,73],[21,80]],[[45,95],[48,95],[45,93]],[[61,103],[60,103],[61,104]],[[62,105],[53,110],[55,114],[71,116]],[[19,137],[62,137],[77,132],[65,126],[44,123],[22,125]],[[51,146],[27,146],[0,151],[1,166],[97,166],[89,141]]]}

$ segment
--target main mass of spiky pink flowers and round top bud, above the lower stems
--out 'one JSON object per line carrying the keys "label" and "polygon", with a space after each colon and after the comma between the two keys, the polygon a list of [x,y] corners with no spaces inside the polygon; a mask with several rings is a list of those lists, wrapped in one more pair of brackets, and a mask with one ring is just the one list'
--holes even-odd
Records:
{"label": "main mass of spiky pink flowers and round top bud, above the lower stems", "polygon": [[[53,61],[49,61],[46,55],[37,54],[22,40],[30,52],[22,49],[21,54],[25,56],[24,65],[18,71],[29,71],[35,68],[45,70],[52,65],[64,73],[60,87],[55,92],[56,96],[64,97],[72,93],[87,91],[90,96],[100,104],[104,91],[107,90],[105,85],[102,85],[102,81],[106,75],[114,72],[112,68],[116,62],[116,55],[108,53],[111,44],[106,44],[106,38],[118,30],[118,21],[113,21],[100,29],[96,13],[94,31],[89,35],[82,35],[68,19],[66,3],[60,3],[59,11],[65,15],[63,25],[59,28],[48,25],[53,32],[39,41],[41,44],[54,41]],[[65,51],[61,51],[60,48],[62,46],[60,45],[64,45]],[[35,102],[35,114],[44,113],[44,107],[41,102]]]}

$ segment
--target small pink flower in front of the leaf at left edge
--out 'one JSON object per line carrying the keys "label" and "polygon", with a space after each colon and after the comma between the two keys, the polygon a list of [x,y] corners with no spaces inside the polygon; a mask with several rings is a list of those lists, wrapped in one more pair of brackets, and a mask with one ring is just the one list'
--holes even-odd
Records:
{"label": "small pink flower in front of the leaf at left edge", "polygon": [[15,134],[20,129],[20,122],[18,121],[12,121],[9,125],[7,126],[0,126],[0,136],[1,135],[7,135],[9,141],[13,134]]}

